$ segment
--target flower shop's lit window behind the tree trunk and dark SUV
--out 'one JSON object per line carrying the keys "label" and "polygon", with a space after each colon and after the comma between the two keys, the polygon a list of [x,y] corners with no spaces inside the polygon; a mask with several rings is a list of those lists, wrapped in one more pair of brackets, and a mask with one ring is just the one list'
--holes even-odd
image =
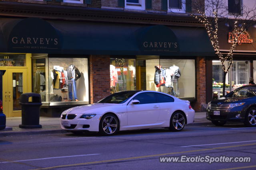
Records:
{"label": "flower shop's lit window behind the tree trunk and dark SUV", "polygon": [[[228,61],[225,61],[226,66],[228,66]],[[249,83],[250,69],[249,61],[233,61],[229,72],[226,74],[226,84],[225,84],[225,95],[234,89],[245,86]],[[218,95],[222,96],[223,88],[223,70],[222,64],[218,60],[212,61],[212,91]]]}

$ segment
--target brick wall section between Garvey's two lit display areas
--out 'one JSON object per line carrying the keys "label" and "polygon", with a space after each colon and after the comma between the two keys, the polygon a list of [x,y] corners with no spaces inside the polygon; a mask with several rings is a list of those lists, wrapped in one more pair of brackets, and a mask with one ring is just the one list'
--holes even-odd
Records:
{"label": "brick wall section between Garvey's two lit display areas", "polygon": [[110,56],[90,55],[90,102],[110,95]]}

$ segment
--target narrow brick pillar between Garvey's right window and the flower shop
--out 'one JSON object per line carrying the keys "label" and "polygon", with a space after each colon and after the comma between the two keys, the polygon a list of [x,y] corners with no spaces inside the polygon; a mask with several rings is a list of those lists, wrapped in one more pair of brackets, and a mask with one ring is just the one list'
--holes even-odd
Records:
{"label": "narrow brick pillar between Garvey's right window and the flower shop", "polygon": [[206,104],[206,63],[204,57],[196,57],[196,102],[191,102],[195,111],[202,111]]}

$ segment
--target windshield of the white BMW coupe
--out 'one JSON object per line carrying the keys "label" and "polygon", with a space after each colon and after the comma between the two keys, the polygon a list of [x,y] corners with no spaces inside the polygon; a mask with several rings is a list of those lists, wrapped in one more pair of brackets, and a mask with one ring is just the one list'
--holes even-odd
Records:
{"label": "windshield of the white BMW coupe", "polygon": [[106,98],[100,100],[98,103],[113,103],[113,104],[122,104],[126,102],[130,97],[132,97],[139,90],[125,91],[125,92],[117,92],[107,96]]}

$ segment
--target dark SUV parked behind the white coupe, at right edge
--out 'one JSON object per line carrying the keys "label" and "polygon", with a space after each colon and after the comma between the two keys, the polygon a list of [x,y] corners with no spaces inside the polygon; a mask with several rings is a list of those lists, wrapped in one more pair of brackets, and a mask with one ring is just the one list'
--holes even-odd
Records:
{"label": "dark SUV parked behind the white coupe, at right edge", "polygon": [[248,127],[255,127],[256,85],[242,86],[209,102],[206,119],[215,125],[224,125],[227,121],[241,121]]}

